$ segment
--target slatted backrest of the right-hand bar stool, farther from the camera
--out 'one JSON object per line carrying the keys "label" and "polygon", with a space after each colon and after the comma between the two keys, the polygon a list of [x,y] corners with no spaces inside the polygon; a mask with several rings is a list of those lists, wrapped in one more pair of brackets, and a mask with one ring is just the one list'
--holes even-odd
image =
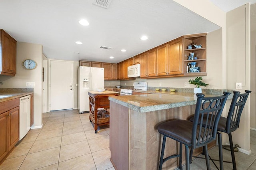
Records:
{"label": "slatted backrest of the right-hand bar stool, farther from the camera", "polygon": [[235,131],[239,127],[240,117],[251,91],[246,90],[243,94],[240,94],[239,91],[233,91],[233,93],[234,95],[226,121],[226,133],[228,134]]}

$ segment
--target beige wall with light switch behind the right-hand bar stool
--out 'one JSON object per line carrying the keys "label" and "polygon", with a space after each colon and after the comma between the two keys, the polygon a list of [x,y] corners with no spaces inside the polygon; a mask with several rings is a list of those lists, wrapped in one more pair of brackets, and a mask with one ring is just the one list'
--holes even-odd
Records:
{"label": "beige wall with light switch behind the right-hand bar stool", "polygon": [[[250,90],[250,6],[241,6],[226,14],[226,85],[234,89],[236,82],[242,83],[242,93]],[[239,45],[238,45],[239,44]],[[250,153],[250,96],[243,114],[239,128],[232,132],[234,144]],[[225,134],[223,140],[228,143]]]}

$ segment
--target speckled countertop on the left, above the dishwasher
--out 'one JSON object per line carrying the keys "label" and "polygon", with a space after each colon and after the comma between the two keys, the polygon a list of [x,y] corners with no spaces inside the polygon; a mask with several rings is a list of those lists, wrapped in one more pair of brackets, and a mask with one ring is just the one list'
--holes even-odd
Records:
{"label": "speckled countertop on the left, above the dishwasher", "polygon": [[0,102],[20,98],[26,95],[31,95],[33,93],[33,89],[28,88],[0,89]]}

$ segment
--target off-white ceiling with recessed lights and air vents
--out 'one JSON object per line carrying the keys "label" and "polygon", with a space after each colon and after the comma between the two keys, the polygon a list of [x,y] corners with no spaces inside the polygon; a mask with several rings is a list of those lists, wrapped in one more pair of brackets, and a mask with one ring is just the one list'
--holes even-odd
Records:
{"label": "off-white ceiling with recessed lights and air vents", "polygon": [[[224,11],[241,6],[234,1],[249,2],[211,1]],[[17,41],[42,44],[46,57],[72,61],[118,63],[179,36],[220,28],[172,0],[112,0],[108,9],[92,0],[2,0],[0,16],[0,28]]]}

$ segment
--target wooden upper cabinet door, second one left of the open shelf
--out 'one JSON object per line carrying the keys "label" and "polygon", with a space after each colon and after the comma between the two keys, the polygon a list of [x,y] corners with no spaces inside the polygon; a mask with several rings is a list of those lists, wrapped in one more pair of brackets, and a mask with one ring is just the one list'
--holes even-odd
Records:
{"label": "wooden upper cabinet door, second one left of the open shelf", "polygon": [[156,75],[168,74],[168,44],[156,48]]}

